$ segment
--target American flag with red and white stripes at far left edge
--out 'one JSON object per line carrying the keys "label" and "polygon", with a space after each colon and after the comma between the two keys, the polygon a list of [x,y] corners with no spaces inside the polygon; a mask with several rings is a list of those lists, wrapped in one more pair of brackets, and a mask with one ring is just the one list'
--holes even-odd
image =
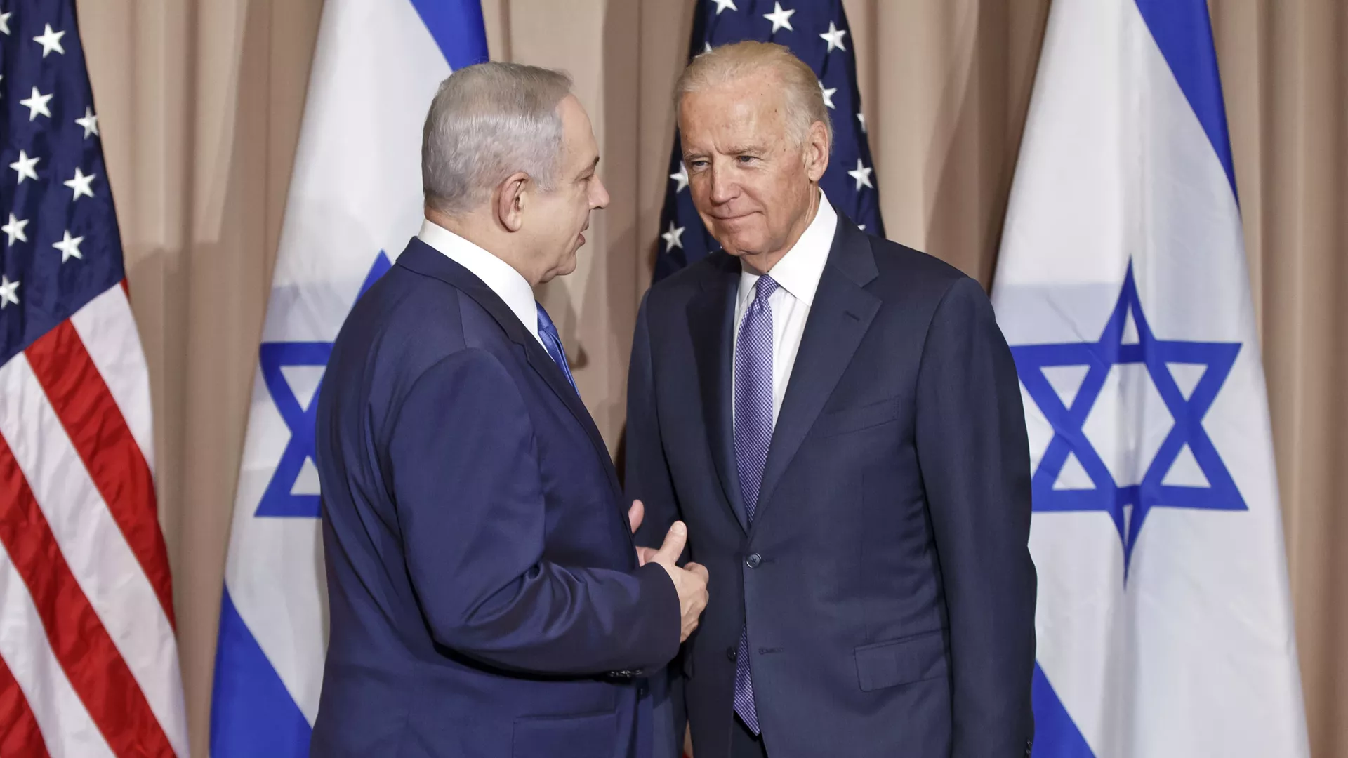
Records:
{"label": "American flag with red and white stripes at far left edge", "polygon": [[186,755],[148,371],[73,0],[0,3],[0,755]]}

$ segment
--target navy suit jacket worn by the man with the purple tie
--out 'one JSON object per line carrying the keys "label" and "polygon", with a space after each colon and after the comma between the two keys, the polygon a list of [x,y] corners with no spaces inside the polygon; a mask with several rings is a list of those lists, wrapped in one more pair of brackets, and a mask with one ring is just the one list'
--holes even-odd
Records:
{"label": "navy suit jacket worn by the man with the purple tie", "polygon": [[728,755],[748,620],[772,758],[1019,758],[1033,736],[1030,460],[976,282],[841,212],[745,526],[731,421],[740,264],[658,283],[636,325],[627,486],[710,572],[682,674],[697,758]]}

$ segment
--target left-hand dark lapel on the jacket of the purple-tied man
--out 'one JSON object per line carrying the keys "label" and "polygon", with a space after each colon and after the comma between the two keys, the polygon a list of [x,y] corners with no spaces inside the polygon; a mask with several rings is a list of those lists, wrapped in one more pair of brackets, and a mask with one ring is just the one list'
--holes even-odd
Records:
{"label": "left-hand dark lapel on the jacket of the purple-tied man", "polygon": [[[702,291],[687,305],[689,333],[697,361],[698,390],[702,398],[702,418],[706,426],[712,460],[735,519],[747,529],[744,503],[740,499],[740,476],[735,464],[735,442],[731,403],[731,383],[735,321],[735,286],[739,282],[739,263],[728,255],[712,275],[702,281]],[[732,270],[733,268],[733,270]]]}

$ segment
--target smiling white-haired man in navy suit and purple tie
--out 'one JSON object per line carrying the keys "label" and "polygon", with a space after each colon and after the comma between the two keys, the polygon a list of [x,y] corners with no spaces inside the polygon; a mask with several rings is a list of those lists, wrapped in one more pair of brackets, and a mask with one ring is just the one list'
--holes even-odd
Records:
{"label": "smiling white-haired man in navy suit and purple tie", "polygon": [[642,305],[627,483],[716,583],[677,666],[696,758],[1029,755],[1030,460],[988,299],[829,205],[787,49],[698,55],[678,124],[724,251]]}

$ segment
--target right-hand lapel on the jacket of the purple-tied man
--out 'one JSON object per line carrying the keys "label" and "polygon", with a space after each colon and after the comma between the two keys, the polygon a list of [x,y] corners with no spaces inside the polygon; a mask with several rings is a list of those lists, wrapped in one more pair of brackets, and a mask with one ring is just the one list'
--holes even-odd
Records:
{"label": "right-hand lapel on the jacket of the purple-tied man", "polygon": [[791,379],[772,430],[772,444],[768,446],[754,514],[755,523],[763,519],[778,482],[880,309],[880,298],[864,289],[876,275],[869,240],[838,212],[833,248],[820,278],[810,316],[805,321],[801,349],[795,355]]}

